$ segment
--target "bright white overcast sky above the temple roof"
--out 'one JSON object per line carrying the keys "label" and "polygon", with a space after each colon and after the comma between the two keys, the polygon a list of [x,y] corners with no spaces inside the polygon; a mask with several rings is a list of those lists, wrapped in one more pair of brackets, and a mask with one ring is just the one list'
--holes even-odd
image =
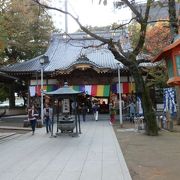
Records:
{"label": "bright white overcast sky above the temple roof", "polygon": [[[114,0],[108,0],[107,6],[99,5],[99,0],[67,0],[68,11],[74,16],[79,17],[83,25],[106,26],[114,22],[120,23],[127,21],[131,17],[128,9],[115,10],[113,7]],[[65,0],[53,0],[52,6],[64,9]],[[51,11],[56,27],[65,29],[64,15]],[[74,32],[79,29],[78,25],[68,17],[68,32]]]}

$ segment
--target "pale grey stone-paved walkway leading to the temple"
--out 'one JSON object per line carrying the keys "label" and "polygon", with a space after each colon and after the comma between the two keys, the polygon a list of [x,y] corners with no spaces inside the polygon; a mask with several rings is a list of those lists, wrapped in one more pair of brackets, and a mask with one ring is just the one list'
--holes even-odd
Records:
{"label": "pale grey stone-paved walkway leading to the temple", "polygon": [[79,137],[36,129],[0,144],[0,180],[131,180],[107,120],[82,123]]}

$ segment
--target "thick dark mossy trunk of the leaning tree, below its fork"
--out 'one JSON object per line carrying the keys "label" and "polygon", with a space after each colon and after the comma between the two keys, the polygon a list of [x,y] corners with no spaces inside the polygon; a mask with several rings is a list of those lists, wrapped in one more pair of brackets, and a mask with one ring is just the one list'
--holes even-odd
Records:
{"label": "thick dark mossy trunk of the leaning tree, below its fork", "polygon": [[142,98],[146,133],[150,136],[157,136],[158,126],[155,111],[153,110],[153,104],[149,94],[149,89],[145,86],[142,74],[138,68],[131,68],[130,72],[136,84],[136,92]]}

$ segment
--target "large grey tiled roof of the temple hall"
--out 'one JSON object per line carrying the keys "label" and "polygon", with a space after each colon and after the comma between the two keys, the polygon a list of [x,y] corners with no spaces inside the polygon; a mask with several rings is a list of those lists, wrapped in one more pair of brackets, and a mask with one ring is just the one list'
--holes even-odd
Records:
{"label": "large grey tiled roof of the temple hall", "polygon": [[[101,35],[107,38],[112,37],[112,33],[101,33]],[[121,35],[121,33],[116,33],[114,40],[120,39]],[[92,47],[100,44],[100,41],[89,37],[84,32],[73,33],[66,37],[63,34],[53,34],[50,45],[44,54],[49,57],[49,63],[44,66],[44,71],[54,72],[55,70],[65,70],[70,65],[73,65],[82,55],[86,56],[89,62],[98,68],[117,69],[118,61],[107,49],[107,45],[99,48]],[[87,46],[90,46],[90,48],[84,48]],[[127,48],[127,44],[124,47]],[[24,73],[38,71],[41,68],[40,57],[5,67],[3,71]]]}

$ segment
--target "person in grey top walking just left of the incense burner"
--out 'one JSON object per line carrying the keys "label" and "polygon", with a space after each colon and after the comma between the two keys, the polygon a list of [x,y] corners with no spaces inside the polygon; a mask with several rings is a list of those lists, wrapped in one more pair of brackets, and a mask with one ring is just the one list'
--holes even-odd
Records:
{"label": "person in grey top walking just left of the incense burner", "polygon": [[43,116],[46,125],[46,132],[49,133],[51,132],[53,110],[48,103],[45,104],[45,108],[43,109]]}

